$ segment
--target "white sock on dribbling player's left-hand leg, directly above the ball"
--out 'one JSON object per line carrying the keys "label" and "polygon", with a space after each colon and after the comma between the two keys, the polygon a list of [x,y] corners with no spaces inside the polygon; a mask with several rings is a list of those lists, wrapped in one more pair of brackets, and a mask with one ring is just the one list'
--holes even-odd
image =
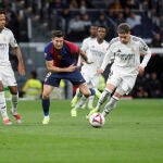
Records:
{"label": "white sock on dribbling player's left-hand leg, directly above the ball", "polygon": [[98,104],[96,106],[97,111],[100,110],[101,104],[106,101],[108,97],[110,97],[111,93],[112,93],[111,90],[108,90],[108,89],[103,90],[103,92],[101,93],[100,99],[98,101]]}

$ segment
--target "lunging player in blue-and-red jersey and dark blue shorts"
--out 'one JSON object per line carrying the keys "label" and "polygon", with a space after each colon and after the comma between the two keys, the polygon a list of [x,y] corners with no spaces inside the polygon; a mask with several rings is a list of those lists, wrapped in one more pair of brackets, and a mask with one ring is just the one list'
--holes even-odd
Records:
{"label": "lunging player in blue-and-red jersey and dark blue shorts", "polygon": [[43,83],[42,92],[42,109],[43,121],[42,124],[48,124],[50,121],[49,96],[53,90],[53,87],[59,87],[61,79],[68,79],[73,85],[79,87],[80,92],[85,97],[95,95],[93,89],[89,89],[84,77],[82,76],[77,65],[78,55],[88,63],[92,62],[88,60],[87,55],[76,45],[64,40],[63,33],[61,30],[52,32],[52,41],[50,41],[45,48],[46,65],[49,71]]}

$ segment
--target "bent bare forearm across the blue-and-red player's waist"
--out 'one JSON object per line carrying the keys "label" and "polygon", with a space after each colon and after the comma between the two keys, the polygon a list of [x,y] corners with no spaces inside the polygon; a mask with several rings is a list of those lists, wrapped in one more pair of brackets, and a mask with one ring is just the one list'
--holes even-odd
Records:
{"label": "bent bare forearm across the blue-and-red player's waist", "polygon": [[51,73],[63,73],[63,72],[74,72],[76,66],[70,65],[68,67],[59,67],[53,65],[53,61],[46,61],[46,65]]}

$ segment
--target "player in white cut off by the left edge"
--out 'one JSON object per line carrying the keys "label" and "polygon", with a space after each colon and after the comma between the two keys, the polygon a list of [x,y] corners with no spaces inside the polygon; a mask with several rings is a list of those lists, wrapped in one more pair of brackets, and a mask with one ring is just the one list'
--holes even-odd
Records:
{"label": "player in white cut off by the left edge", "polygon": [[3,86],[8,86],[12,95],[11,98],[11,113],[15,117],[17,123],[22,123],[21,115],[17,113],[18,90],[15,80],[14,72],[9,61],[9,45],[14,49],[14,52],[18,60],[17,70],[20,75],[25,75],[25,68],[23,64],[21,49],[14,38],[13,33],[5,27],[5,13],[0,11],[0,112],[2,114],[3,123],[11,125],[8,113],[7,102],[4,98]]}

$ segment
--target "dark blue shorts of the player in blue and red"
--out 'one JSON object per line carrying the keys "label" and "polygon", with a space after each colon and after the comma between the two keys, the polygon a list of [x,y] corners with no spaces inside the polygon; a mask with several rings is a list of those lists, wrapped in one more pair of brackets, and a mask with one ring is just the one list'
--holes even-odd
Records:
{"label": "dark blue shorts of the player in blue and red", "polygon": [[85,83],[83,75],[76,68],[71,73],[48,73],[45,79],[45,85],[50,85],[53,87],[59,87],[61,79],[68,79],[73,85],[80,85]]}

